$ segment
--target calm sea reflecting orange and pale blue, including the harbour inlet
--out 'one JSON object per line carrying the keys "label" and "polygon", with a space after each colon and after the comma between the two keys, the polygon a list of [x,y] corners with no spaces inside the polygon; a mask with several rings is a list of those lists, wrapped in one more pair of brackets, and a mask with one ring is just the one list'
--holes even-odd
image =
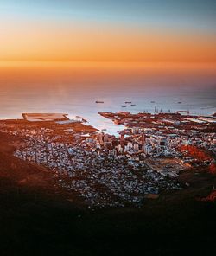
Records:
{"label": "calm sea reflecting orange and pale blue, including the harbour inlet", "polygon": [[[96,104],[96,100],[104,104]],[[98,112],[154,112],[155,106],[164,112],[216,112],[216,70],[143,68],[102,72],[94,68],[0,67],[0,118],[21,118],[22,112],[65,112],[116,134],[121,127]]]}

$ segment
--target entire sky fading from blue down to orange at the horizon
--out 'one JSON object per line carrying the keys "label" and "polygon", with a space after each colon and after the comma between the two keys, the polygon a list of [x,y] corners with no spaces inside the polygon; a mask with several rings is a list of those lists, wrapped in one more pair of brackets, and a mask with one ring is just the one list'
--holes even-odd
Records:
{"label": "entire sky fading from blue down to orange at the horizon", "polygon": [[0,61],[216,62],[215,0],[0,0]]}

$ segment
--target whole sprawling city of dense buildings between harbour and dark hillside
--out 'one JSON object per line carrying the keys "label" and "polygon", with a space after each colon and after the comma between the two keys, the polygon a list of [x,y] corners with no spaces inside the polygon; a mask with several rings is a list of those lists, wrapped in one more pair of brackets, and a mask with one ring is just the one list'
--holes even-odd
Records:
{"label": "whole sprawling city of dense buildings between harbour and dark hillside", "polygon": [[[123,118],[122,112],[109,115],[114,121]],[[155,198],[167,189],[181,189],[182,184],[175,178],[197,164],[186,150],[180,150],[181,145],[193,145],[215,156],[213,126],[190,124],[188,129],[188,124],[181,124],[181,115],[173,119],[179,123],[156,125],[160,118],[152,118],[149,113],[148,118],[124,115],[127,126],[119,137],[104,132],[75,133],[73,129],[59,134],[58,126],[44,128],[43,123],[31,129],[4,127],[4,131],[24,142],[15,156],[53,170],[60,187],[75,192],[89,205],[124,206],[140,204],[144,198]],[[199,164],[212,161],[214,157]]]}

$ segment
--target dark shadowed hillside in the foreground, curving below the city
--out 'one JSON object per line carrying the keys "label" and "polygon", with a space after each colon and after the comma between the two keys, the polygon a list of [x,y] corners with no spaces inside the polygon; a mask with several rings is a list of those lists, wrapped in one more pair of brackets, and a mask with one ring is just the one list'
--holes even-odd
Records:
{"label": "dark shadowed hillside in the foreground, curving below the city", "polygon": [[187,189],[141,208],[87,209],[49,170],[12,156],[17,138],[0,133],[1,255],[182,255],[216,253],[216,205],[200,202],[215,176],[183,173]]}

